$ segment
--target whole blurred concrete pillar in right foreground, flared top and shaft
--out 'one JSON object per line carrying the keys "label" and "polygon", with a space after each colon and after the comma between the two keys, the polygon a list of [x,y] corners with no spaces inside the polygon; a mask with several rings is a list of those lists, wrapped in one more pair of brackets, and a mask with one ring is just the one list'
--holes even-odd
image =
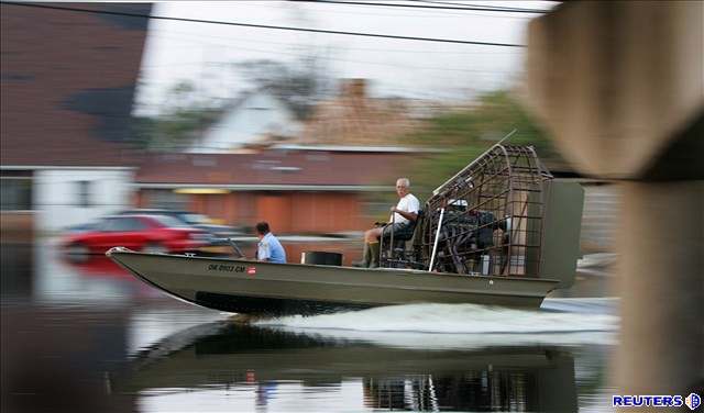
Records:
{"label": "whole blurred concrete pillar in right foreground, flared top and shaft", "polygon": [[604,1],[529,26],[528,104],[582,174],[620,181],[625,394],[704,377],[703,23],[700,1]]}

